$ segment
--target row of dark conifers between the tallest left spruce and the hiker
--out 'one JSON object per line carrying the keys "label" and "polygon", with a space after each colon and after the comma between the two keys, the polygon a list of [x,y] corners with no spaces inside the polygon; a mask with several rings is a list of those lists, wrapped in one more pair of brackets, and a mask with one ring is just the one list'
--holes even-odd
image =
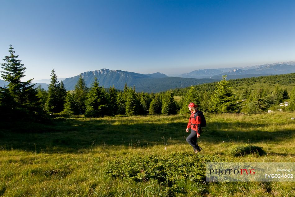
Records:
{"label": "row of dark conifers between the tallest left spruce and the hiker", "polygon": [[41,86],[37,88],[47,112],[86,117],[177,113],[177,103],[171,90],[164,94],[137,93],[135,87],[128,87],[127,84],[123,91],[115,87],[105,89],[99,86],[97,78],[87,87],[80,75],[75,89],[66,91],[62,82],[57,81],[54,70],[51,76],[48,92]]}

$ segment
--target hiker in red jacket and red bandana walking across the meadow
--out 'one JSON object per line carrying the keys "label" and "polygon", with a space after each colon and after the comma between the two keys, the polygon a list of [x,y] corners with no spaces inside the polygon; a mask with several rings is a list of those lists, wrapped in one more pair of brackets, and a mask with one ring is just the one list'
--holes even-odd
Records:
{"label": "hiker in red jacket and red bandana walking across the meadow", "polygon": [[199,153],[202,150],[197,143],[197,138],[200,137],[202,132],[201,117],[195,116],[195,113],[198,111],[197,107],[196,104],[189,103],[188,110],[191,112],[191,116],[189,117],[188,126],[186,128],[186,132],[189,132],[189,128],[191,129],[191,134],[188,135],[186,141],[193,147],[194,153]]}

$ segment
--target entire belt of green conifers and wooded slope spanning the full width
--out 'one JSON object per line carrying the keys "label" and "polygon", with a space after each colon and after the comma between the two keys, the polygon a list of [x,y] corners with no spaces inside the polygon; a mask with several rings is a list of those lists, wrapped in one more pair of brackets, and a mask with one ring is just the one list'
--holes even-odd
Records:
{"label": "entire belt of green conifers and wooded slope spanning the full width", "polygon": [[[138,93],[135,87],[125,84],[124,90],[115,87],[99,86],[95,79],[90,87],[82,76],[75,85],[75,90],[67,91],[63,82],[57,80],[54,70],[48,91],[39,85],[30,85],[33,79],[22,82],[25,67],[18,60],[12,46],[10,56],[5,56],[1,63],[2,78],[9,84],[0,89],[1,120],[44,120],[48,114],[61,113],[84,115],[85,117],[102,117],[114,115],[147,114],[187,114],[188,104],[194,102],[199,109],[212,113],[257,113],[288,100],[287,110],[295,110],[295,88],[288,93],[279,84],[294,84],[295,74],[252,77],[226,81],[226,76],[219,82],[191,86],[161,93]],[[254,83],[277,83],[270,91],[260,86],[250,89]],[[237,94],[237,88],[243,90]],[[181,96],[175,101],[174,96]]]}

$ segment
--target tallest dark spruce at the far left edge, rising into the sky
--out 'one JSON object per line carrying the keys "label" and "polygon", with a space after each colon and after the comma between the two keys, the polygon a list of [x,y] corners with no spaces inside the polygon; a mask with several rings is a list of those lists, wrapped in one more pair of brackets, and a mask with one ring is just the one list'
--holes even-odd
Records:
{"label": "tallest dark spruce at the far left edge, rising into the sky", "polygon": [[[18,120],[40,120],[44,118],[45,113],[40,98],[36,95],[35,84],[30,84],[33,79],[21,81],[21,78],[25,77],[26,68],[24,64],[20,63],[21,60],[17,59],[19,56],[15,55],[12,46],[9,47],[8,51],[10,56],[4,56],[3,59],[6,63],[1,63],[1,68],[4,70],[1,71],[1,76],[4,81],[9,82],[7,88],[1,88],[1,105],[11,105],[11,110],[17,114]],[[13,99],[13,101],[9,102],[8,98]],[[6,111],[2,111],[3,114],[11,114],[11,110],[5,107],[4,109]]]}

